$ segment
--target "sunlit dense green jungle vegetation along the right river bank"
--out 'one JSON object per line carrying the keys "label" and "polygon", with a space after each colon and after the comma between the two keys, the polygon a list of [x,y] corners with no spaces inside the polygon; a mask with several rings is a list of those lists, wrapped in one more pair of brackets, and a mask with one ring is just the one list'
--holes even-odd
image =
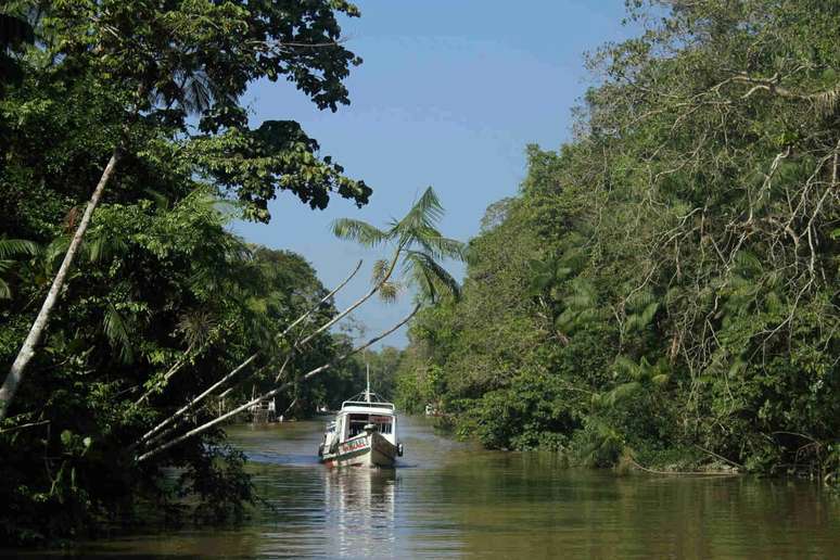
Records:
{"label": "sunlit dense green jungle vegetation along the right river bank", "polygon": [[596,466],[840,470],[840,3],[628,3],[397,394]]}

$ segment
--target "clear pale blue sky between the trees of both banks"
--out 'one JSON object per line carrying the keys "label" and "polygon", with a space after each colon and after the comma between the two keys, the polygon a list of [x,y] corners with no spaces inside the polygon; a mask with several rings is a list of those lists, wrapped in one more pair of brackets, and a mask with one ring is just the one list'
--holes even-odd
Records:
{"label": "clear pale blue sky between the trees of both banks", "polygon": [[[584,53],[631,35],[623,0],[359,0],[360,18],[342,21],[346,47],[364,59],[345,84],[351,105],[318,109],[292,85],[259,81],[246,94],[256,127],[293,119],[345,174],[373,189],[367,206],[334,196],[311,211],[282,192],[267,225],[237,222],[250,242],[294,251],[328,289],[364,259],[335,297],[346,307],[370,287],[383,252],[336,240],[330,224],[352,217],[383,227],[432,186],[446,215],[442,232],[468,241],[484,211],[513,196],[525,175],[525,147],[556,150],[571,135],[571,110],[594,82]],[[464,268],[449,264],[462,278]],[[412,294],[371,300],[354,311],[368,338],[398,322]],[[382,344],[404,347],[406,328]]]}

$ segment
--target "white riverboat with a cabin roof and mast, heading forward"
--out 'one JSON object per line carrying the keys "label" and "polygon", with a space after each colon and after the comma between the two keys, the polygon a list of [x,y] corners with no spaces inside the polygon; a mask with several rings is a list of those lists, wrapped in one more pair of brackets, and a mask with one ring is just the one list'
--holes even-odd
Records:
{"label": "white riverboat with a cabin roof and mast, heading forward", "polygon": [[327,424],[318,446],[319,460],[328,467],[393,467],[402,456],[394,404],[370,391],[368,373],[365,392],[342,403],[335,419]]}

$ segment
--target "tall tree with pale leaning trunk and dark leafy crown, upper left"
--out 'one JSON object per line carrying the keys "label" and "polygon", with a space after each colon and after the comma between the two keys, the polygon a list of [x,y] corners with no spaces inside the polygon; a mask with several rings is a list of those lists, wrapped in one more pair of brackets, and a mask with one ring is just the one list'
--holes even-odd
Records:
{"label": "tall tree with pale leaning trunk and dark leafy crown, upper left", "polygon": [[[281,76],[295,82],[319,109],[347,103],[342,84],[360,61],[341,44],[335,13],[358,15],[347,2],[13,2],[7,10],[37,13],[38,52],[27,72],[63,85],[88,80],[105,105],[100,133],[111,143],[85,212],[75,227],[40,311],[0,387],[0,419],[35,355],[74,263],[93,211],[125,160],[143,161],[167,138],[182,148],[173,155],[195,174],[231,191],[247,217],[267,220],[267,201],[278,189],[314,207],[329,192],[367,202],[370,189],[341,175],[295,123],[247,128],[240,97],[257,79]],[[5,16],[4,16],[5,17]],[[4,20],[5,21],[5,20]],[[43,64],[48,62],[48,64]],[[66,80],[66,81],[65,81]],[[31,90],[30,90],[31,91]],[[31,100],[29,100],[31,101]],[[187,118],[199,117],[193,135]],[[130,180],[124,181],[130,189]]]}

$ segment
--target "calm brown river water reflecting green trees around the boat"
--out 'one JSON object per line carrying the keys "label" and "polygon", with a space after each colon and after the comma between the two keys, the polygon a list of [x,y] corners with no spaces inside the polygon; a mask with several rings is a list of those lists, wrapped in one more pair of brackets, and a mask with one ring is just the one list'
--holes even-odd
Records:
{"label": "calm brown river water reflecting green trees around the boat", "polygon": [[618,475],[485,451],[402,419],[391,470],[328,470],[324,420],[232,427],[259,508],[237,526],[85,544],[112,558],[839,558],[840,495],[804,481]]}

